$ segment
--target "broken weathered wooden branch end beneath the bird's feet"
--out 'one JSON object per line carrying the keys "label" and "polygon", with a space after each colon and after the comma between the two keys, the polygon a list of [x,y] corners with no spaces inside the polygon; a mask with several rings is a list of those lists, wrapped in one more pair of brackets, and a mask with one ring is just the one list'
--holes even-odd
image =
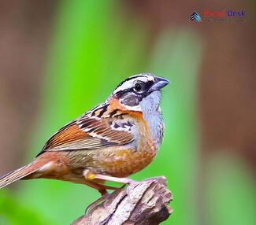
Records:
{"label": "broken weathered wooden branch end beneath the bird's feet", "polygon": [[172,200],[165,177],[150,178],[115,190],[104,203],[72,225],[159,224],[173,212],[169,207]]}

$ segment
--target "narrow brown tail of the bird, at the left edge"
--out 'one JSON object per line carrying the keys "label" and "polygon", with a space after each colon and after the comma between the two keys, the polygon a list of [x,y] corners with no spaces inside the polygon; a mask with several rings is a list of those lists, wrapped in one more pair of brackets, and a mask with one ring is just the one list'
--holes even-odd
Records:
{"label": "narrow brown tail of the bird, at the left edge", "polygon": [[18,168],[17,170],[14,170],[13,172],[9,172],[6,175],[3,175],[0,178],[0,189],[4,186],[9,185],[10,183],[13,183],[19,179],[24,178],[27,175],[32,174],[33,172],[36,172],[39,170],[38,167],[35,166],[35,164],[28,164],[22,168]]}

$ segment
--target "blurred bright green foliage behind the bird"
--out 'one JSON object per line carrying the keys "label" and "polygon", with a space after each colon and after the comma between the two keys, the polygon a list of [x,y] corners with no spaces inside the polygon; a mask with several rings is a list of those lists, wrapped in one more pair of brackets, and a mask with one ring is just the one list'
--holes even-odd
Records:
{"label": "blurred bright green foliage behind the bird", "polygon": [[[174,212],[163,224],[198,224],[202,216],[195,204],[198,197],[204,197],[210,208],[203,215],[208,224],[253,224],[253,182],[239,159],[222,155],[213,159],[210,186],[198,194],[195,115],[200,37],[189,29],[172,28],[152,43],[145,24],[126,17],[118,4],[113,0],[61,2],[46,63],[43,101],[24,163],[63,124],[105,101],[121,80],[152,72],[172,82],[163,90],[161,104],[165,139],[154,162],[133,178],[167,177]],[[20,182],[16,193],[0,192],[0,224],[68,224],[98,197],[95,190],[72,183]]]}

